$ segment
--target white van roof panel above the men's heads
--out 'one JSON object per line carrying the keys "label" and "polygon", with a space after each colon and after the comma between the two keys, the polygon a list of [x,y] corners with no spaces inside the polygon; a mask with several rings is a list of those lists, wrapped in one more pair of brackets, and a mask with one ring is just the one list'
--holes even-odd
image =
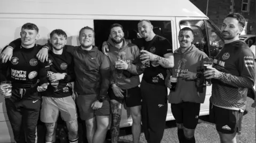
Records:
{"label": "white van roof panel above the men's heads", "polygon": [[1,0],[1,13],[189,16],[207,18],[203,12],[188,0]]}

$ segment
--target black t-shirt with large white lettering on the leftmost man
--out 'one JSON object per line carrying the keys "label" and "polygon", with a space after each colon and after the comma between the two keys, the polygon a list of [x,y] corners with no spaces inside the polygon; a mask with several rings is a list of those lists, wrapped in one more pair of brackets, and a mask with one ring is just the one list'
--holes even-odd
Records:
{"label": "black t-shirt with large white lettering on the leftmost man", "polygon": [[[35,45],[32,48],[16,47],[13,49],[11,61],[7,61],[5,64],[0,62],[1,77],[5,77],[5,80],[10,80],[12,88],[33,89],[33,91],[37,91],[37,86],[47,83],[46,78],[49,65],[47,62],[40,62],[36,57],[40,48],[40,45]],[[34,94],[27,93],[23,98],[41,99],[37,92]]]}

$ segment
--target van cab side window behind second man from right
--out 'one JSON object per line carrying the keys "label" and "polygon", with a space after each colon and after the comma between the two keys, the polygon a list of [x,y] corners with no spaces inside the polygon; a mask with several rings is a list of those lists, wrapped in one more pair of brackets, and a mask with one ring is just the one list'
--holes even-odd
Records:
{"label": "van cab side window behind second man from right", "polygon": [[209,49],[207,48],[207,36],[205,31],[205,23],[203,20],[191,20],[191,21],[181,21],[180,29],[184,27],[191,28],[195,35],[193,44],[201,51],[209,56]]}

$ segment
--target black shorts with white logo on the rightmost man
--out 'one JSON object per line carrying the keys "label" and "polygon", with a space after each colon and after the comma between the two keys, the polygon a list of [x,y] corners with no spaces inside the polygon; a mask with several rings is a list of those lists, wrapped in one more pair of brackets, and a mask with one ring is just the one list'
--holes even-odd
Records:
{"label": "black shorts with white logo on the rightmost man", "polygon": [[210,121],[215,123],[218,132],[241,133],[243,112],[214,106],[210,102]]}

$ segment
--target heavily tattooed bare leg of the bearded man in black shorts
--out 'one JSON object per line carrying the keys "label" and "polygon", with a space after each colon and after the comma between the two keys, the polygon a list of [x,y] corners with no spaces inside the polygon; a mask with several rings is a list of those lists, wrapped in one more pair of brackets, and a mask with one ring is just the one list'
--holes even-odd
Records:
{"label": "heavily tattooed bare leg of the bearded man in black shorts", "polygon": [[117,143],[119,136],[119,125],[121,121],[121,113],[122,113],[122,104],[117,100],[110,100],[110,107],[112,112],[112,122],[111,122],[111,142]]}

